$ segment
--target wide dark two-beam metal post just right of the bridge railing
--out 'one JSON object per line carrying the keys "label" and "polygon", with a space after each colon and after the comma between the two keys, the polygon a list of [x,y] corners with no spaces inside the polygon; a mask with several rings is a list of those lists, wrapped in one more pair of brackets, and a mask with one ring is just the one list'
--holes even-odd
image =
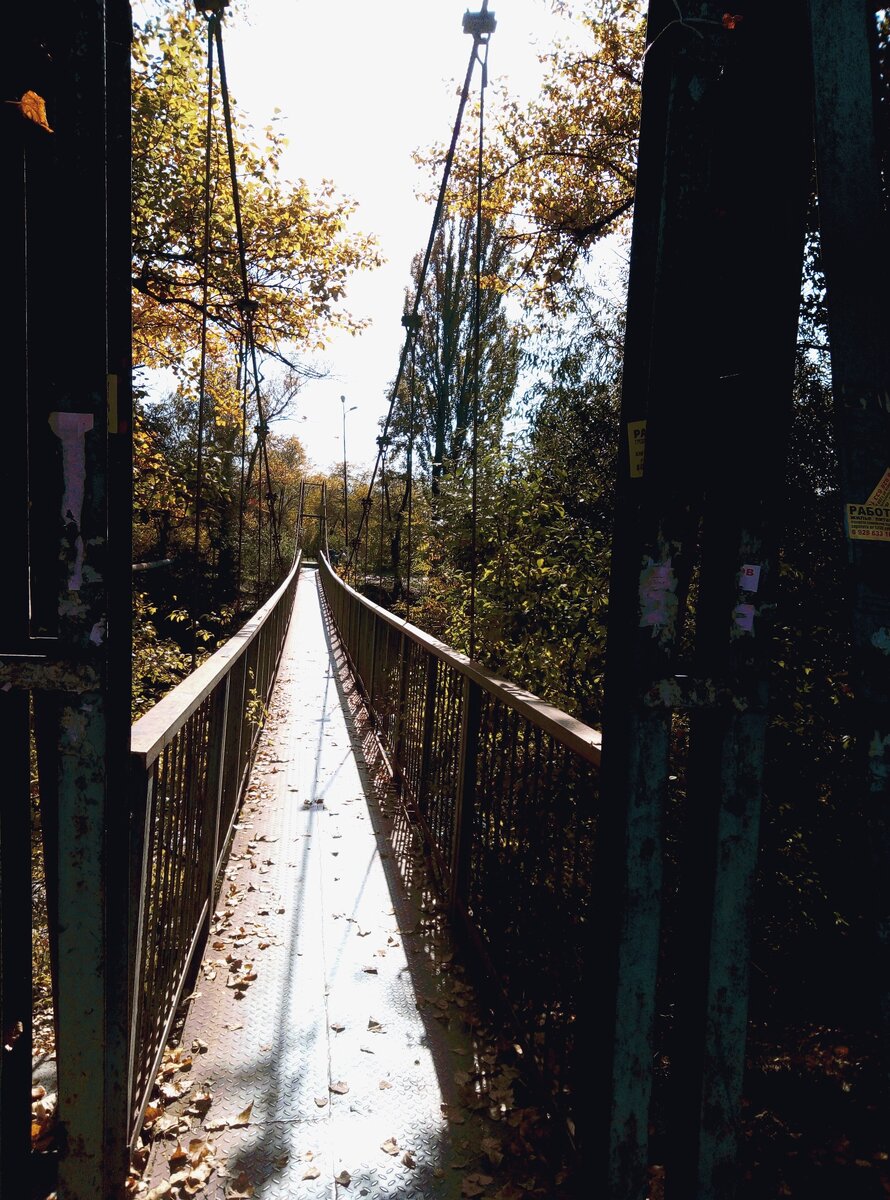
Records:
{"label": "wide dark two-beam metal post just right of the bridge railing", "polygon": [[[752,2],[727,16],[714,2],[690,6],[692,24],[672,4],[650,10],[595,906],[614,917],[591,967],[602,995],[593,1027],[612,1032],[591,1052],[599,1103],[585,1136],[609,1200],[647,1190],[662,816],[682,709],[693,710],[681,878],[693,912],[674,935],[684,946],[670,946],[672,1196],[730,1194],[741,1103],[766,724],[763,601],[776,574],[810,143],[802,5],[777,13]],[[795,97],[782,121],[763,89],[776,71]],[[756,194],[764,176],[778,179],[769,210]],[[715,408],[736,421],[715,421]],[[692,677],[680,656],[691,616]]]}

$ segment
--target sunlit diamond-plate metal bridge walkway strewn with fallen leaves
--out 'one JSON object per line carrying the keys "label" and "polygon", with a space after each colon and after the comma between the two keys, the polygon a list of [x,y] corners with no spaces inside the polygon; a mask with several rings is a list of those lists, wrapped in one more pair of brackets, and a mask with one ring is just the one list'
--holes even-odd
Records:
{"label": "sunlit diamond-plate metal bridge walkway strewn with fallen leaves", "polygon": [[150,1194],[552,1196],[336,649],[305,569]]}

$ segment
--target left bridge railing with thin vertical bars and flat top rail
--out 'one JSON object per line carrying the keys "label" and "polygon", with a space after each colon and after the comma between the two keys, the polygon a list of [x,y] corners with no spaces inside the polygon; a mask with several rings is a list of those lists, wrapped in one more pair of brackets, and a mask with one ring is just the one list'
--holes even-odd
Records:
{"label": "left bridge railing with thin vertical bars and flat top rail", "polygon": [[299,572],[297,556],[243,628],[133,725],[131,1142],[216,905]]}

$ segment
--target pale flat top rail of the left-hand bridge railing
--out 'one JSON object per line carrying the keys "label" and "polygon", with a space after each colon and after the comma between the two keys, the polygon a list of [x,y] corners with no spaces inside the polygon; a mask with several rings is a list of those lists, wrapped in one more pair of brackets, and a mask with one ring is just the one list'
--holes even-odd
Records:
{"label": "pale flat top rail of the left-hand bridge railing", "polygon": [[144,716],[134,721],[130,734],[130,749],[131,754],[143,760],[145,768],[150,767],[163,748],[173,742],[192,713],[208,698],[225,672],[231,670],[257,637],[300,570],[301,559],[302,552],[297,553],[284,582],[228,642],[211,654],[206,662],[202,662],[182,683],[168,691]]}

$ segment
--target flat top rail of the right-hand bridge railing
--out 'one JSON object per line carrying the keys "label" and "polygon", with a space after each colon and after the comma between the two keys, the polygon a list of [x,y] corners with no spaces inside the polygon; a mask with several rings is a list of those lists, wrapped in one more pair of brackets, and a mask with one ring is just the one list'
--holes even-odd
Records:
{"label": "flat top rail of the right-hand bridge railing", "polygon": [[432,637],[429,634],[425,634],[416,625],[410,625],[403,618],[387,612],[386,608],[381,608],[380,605],[368,600],[356,592],[355,588],[345,583],[323,554],[319,554],[319,563],[321,570],[326,575],[330,575],[338,587],[345,588],[359,604],[365,605],[366,608],[371,608],[380,620],[404,634],[410,641],[416,642],[429,654],[434,655],[441,662],[446,662],[462,676],[473,679],[480,688],[483,688],[492,696],[503,701],[509,708],[516,709],[521,716],[524,716],[533,725],[537,725],[548,733],[552,733],[557,740],[575,751],[575,754],[599,766],[602,751],[602,734],[599,730],[594,730],[575,716],[570,716],[569,713],[564,713],[560,708],[548,704],[539,696],[535,696],[534,692],[525,691],[524,688],[519,688],[517,684],[510,683],[507,679],[501,679],[491,671],[486,671],[483,666],[474,662],[465,654],[452,650],[450,646],[438,641],[438,638]]}

